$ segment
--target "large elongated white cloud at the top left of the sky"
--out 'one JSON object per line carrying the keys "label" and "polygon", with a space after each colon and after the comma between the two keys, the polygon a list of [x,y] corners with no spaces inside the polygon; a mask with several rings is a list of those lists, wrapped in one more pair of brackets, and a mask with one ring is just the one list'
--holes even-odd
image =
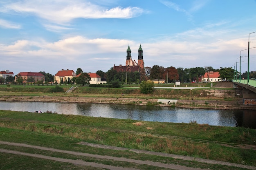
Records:
{"label": "large elongated white cloud at the top left of the sky", "polygon": [[5,10],[16,13],[30,13],[57,24],[65,24],[74,18],[132,18],[143,13],[138,7],[112,7],[107,9],[89,1],[19,0],[5,5]]}

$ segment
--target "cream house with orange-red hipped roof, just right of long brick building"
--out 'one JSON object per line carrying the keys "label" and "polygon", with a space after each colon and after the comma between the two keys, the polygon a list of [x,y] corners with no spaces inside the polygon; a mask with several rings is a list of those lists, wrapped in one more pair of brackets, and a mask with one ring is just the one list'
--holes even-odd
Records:
{"label": "cream house with orange-red hipped roof, just right of long brick building", "polygon": [[61,71],[58,71],[56,75],[54,75],[54,82],[57,82],[58,84],[60,84],[61,80],[63,80],[63,82],[67,81],[67,83],[69,84],[73,77],[76,77],[76,73],[73,70],[62,69]]}

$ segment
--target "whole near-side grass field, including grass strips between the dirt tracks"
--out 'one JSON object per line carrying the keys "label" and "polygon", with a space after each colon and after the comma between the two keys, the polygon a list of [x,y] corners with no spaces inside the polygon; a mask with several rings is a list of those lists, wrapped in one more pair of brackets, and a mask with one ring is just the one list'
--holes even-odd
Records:
{"label": "whole near-side grass field, including grass strips between the dirt tracks", "polygon": [[[0,110],[0,140],[16,143],[24,143],[62,150],[72,150],[98,155],[112,155],[116,157],[128,157],[139,160],[150,160],[167,163],[175,163],[192,167],[210,168],[226,170],[228,166],[208,165],[204,163],[182,161],[172,158],[139,155],[129,151],[106,150],[78,145],[85,141],[94,144],[104,144],[108,146],[119,146],[155,152],[164,152],[177,155],[185,155],[204,159],[240,163],[249,166],[256,165],[256,150],[245,146],[255,146],[256,130],[248,128],[209,126],[207,124],[175,124],[149,121],[135,121],[130,119],[110,119],[101,117],[84,117],[77,115],[58,114],[35,114],[28,112],[14,112]],[[1,148],[18,150],[50,155],[56,157],[71,157],[67,154],[57,154],[43,152],[36,149],[28,149],[0,144]],[[10,159],[5,157],[11,156]],[[14,156],[0,152],[0,157],[4,158],[2,163],[12,164],[13,160],[16,168],[20,162],[29,164],[30,157]],[[35,159],[35,158],[34,158]],[[32,159],[33,161],[35,161]],[[4,161],[4,162],[3,162]],[[36,159],[37,163],[32,163],[36,168],[39,166],[54,169],[58,166],[56,162],[46,162]],[[92,159],[93,162],[105,162],[104,160]],[[108,161],[107,161],[108,162]],[[111,163],[108,162],[108,163]],[[112,162],[125,167],[136,167],[137,165],[123,165],[121,162]],[[66,168],[70,164],[63,164]],[[30,168],[30,169],[33,169]],[[141,167],[140,167],[141,168]],[[8,166],[1,170],[9,169]],[[58,169],[58,168],[57,168]],[[78,168],[79,169],[79,168]],[[150,169],[143,167],[142,169]],[[233,168],[238,170],[240,168]]]}

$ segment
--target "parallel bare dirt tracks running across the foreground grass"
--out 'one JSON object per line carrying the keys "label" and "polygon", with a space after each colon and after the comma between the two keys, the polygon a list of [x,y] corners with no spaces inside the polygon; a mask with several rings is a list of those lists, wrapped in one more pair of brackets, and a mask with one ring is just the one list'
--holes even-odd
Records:
{"label": "parallel bare dirt tracks running across the foreground grass", "polygon": [[[61,153],[66,153],[66,154],[71,154],[71,155],[79,155],[79,156],[84,156],[84,157],[94,157],[94,158],[98,158],[98,159],[111,159],[111,160],[115,160],[115,161],[126,161],[126,162],[137,163],[137,164],[145,164],[145,165],[149,165],[149,166],[169,168],[169,169],[173,169],[173,170],[209,170],[209,169],[200,169],[200,168],[189,168],[189,167],[186,167],[186,166],[159,163],[159,162],[153,162],[153,161],[141,161],[141,160],[135,160],[135,159],[121,158],[121,157],[112,157],[112,156],[107,156],[107,155],[94,155],[94,154],[88,154],[88,153],[73,152],[73,151],[68,151],[68,150],[59,150],[59,149],[54,149],[54,148],[46,148],[46,147],[41,147],[41,146],[32,146],[32,145],[27,145],[27,144],[5,142],[5,141],[0,141],[0,144],[27,147],[27,148],[35,148],[35,149],[40,149],[40,150],[48,150],[48,151],[52,151],[52,152],[61,152]],[[84,143],[84,144],[86,144],[86,143]],[[89,143],[87,143],[87,145],[89,145]],[[99,147],[98,145],[94,145],[94,144],[90,144],[90,146]],[[107,149],[112,149],[110,146],[101,145],[101,147],[103,147],[103,148],[106,147]],[[117,147],[115,147],[115,149],[116,148]],[[180,156],[180,155],[149,152],[149,151],[144,151],[144,150],[131,150],[131,151],[137,152],[137,153],[146,153],[146,154],[151,154],[151,155],[160,155],[160,156],[164,156],[164,157],[169,156],[169,157],[174,157],[176,159],[184,159],[184,160],[193,159],[193,161],[200,161],[200,162],[204,162],[204,163],[213,163],[213,164],[221,164],[221,165],[227,165],[227,166],[236,166],[236,167],[240,167],[240,168],[247,168],[247,169],[251,169],[251,170],[256,170],[256,167],[244,166],[244,165],[240,165],[240,164],[236,164],[236,163],[227,163],[227,162],[213,161],[213,160],[208,160],[208,159],[195,159],[193,157],[185,157],[185,156]],[[86,161],[82,161],[82,160],[73,160],[73,159],[63,159],[63,158],[57,158],[57,157],[49,157],[49,156],[45,156],[45,155],[30,154],[30,153],[26,153],[26,152],[15,151],[15,150],[0,149],[0,152],[11,153],[11,154],[16,154],[16,155],[24,155],[24,156],[29,156],[29,157],[37,157],[37,158],[41,158],[41,159],[50,159],[50,160],[54,160],[54,161],[79,164],[79,165],[83,165],[83,166],[106,168],[106,169],[110,169],[110,170],[136,170],[135,168],[123,168],[123,167],[116,167],[116,166],[110,166],[110,165],[103,165],[103,164],[100,164],[100,163],[86,162]]]}

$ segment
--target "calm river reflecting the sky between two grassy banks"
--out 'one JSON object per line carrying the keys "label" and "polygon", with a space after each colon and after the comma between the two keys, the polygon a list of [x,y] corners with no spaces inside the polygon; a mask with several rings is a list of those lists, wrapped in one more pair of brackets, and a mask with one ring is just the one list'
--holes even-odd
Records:
{"label": "calm river reflecting the sky between two grassy banks", "polygon": [[34,112],[35,110],[46,112],[48,110],[58,114],[173,123],[189,123],[196,121],[198,124],[232,127],[244,126],[256,129],[255,110],[215,110],[125,104],[3,101],[0,101],[0,110],[28,112]]}

